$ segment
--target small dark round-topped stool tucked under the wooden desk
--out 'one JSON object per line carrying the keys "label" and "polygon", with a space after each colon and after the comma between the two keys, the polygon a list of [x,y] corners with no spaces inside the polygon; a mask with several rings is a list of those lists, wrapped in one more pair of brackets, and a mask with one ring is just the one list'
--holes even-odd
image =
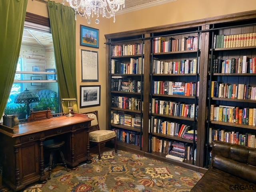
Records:
{"label": "small dark round-topped stool tucked under the wooden desk", "polygon": [[[46,141],[46,143],[47,143],[47,142],[48,142],[48,141]],[[52,140],[49,140],[49,142],[52,142]],[[49,177],[48,177],[48,180],[51,179],[51,171],[52,171],[52,164],[53,164],[53,154],[54,154],[55,151],[59,151],[60,157],[61,157],[61,159],[62,159],[62,163],[58,163],[58,164],[56,164],[56,165],[64,164],[64,166],[65,166],[65,168],[66,168],[66,171],[67,171],[67,172],[69,171],[68,168],[67,168],[66,160],[65,160],[65,158],[64,158],[64,154],[63,154],[62,150],[60,150],[60,148],[61,148],[62,146],[64,146],[64,144],[65,144],[65,142],[62,141],[62,142],[58,142],[58,143],[46,144],[46,145],[44,146],[44,148],[45,148],[46,150],[49,150],[49,151],[50,151]]]}

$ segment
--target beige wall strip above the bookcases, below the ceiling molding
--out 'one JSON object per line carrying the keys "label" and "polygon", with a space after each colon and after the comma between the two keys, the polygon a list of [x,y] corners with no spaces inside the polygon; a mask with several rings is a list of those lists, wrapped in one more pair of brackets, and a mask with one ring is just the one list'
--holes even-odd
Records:
{"label": "beige wall strip above the bookcases, below the ceiling molding", "polygon": [[110,33],[256,10],[256,0],[176,0],[116,16]]}

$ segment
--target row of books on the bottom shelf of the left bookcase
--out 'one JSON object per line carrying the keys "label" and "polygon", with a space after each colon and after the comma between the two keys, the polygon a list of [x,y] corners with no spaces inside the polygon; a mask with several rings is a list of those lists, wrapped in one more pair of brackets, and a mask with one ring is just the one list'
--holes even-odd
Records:
{"label": "row of books on the bottom shelf of the left bookcase", "polygon": [[122,129],[112,129],[112,130],[116,132],[116,139],[118,141],[140,146],[140,134],[138,134],[137,132],[126,131]]}

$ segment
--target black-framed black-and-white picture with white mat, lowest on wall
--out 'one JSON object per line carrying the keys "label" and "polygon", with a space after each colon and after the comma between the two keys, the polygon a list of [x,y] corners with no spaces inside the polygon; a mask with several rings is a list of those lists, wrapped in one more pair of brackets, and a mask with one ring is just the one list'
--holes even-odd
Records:
{"label": "black-framed black-and-white picture with white mat, lowest on wall", "polygon": [[100,85],[80,86],[80,108],[100,106]]}

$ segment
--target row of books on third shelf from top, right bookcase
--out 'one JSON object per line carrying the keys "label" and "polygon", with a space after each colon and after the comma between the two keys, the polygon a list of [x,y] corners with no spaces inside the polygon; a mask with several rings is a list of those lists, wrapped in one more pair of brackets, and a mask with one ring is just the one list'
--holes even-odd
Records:
{"label": "row of books on third shelf from top, right bookcase", "polygon": [[231,99],[256,99],[256,87],[245,84],[228,84],[212,81],[211,97]]}

